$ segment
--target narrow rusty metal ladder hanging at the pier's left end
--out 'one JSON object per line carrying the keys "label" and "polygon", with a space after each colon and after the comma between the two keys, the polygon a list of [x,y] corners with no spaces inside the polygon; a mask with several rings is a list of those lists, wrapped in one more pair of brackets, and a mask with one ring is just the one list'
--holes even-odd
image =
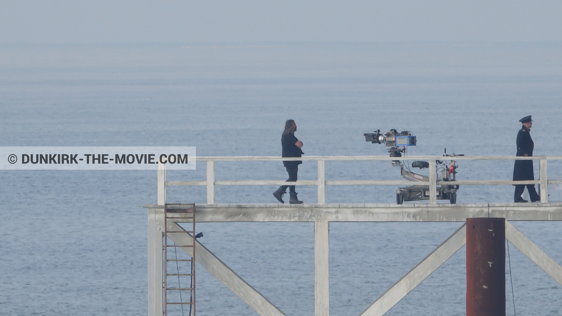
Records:
{"label": "narrow rusty metal ladder hanging at the pier's left end", "polygon": [[[164,312],[164,316],[168,316],[168,305],[180,305],[182,307],[182,315],[184,315],[184,310],[183,310],[183,306],[184,305],[190,305],[189,311],[192,313],[189,313],[193,316],[195,316],[195,204],[193,203],[167,203],[164,205],[164,218],[165,218],[165,228],[164,228],[164,234],[163,234],[163,240],[162,240],[162,245],[163,245],[163,252],[164,252],[164,267],[163,267],[163,273],[162,273],[162,278],[163,278],[163,287],[162,287],[162,295],[164,295],[164,306],[162,306],[164,308],[163,312]],[[189,227],[191,228],[191,230],[169,230],[169,228],[174,227],[173,223],[169,223],[170,222],[174,222],[174,219],[182,219],[182,222],[188,223]],[[187,221],[186,221],[187,219]],[[189,229],[189,228],[188,228]],[[187,245],[178,245],[175,242],[173,242],[170,237],[168,236],[169,233],[184,233],[185,236],[188,236],[188,240],[191,242],[191,245],[189,245],[189,242],[183,242],[184,244]],[[170,242],[172,242],[172,244],[170,244]],[[179,248],[191,248],[191,259],[178,259],[177,256],[177,249]],[[168,250],[169,249],[174,249],[174,258],[173,259],[169,259],[169,254],[168,254]],[[189,253],[188,253],[189,254]],[[170,273],[170,271],[168,271],[168,263],[169,262],[175,262],[176,264],[176,273]],[[191,269],[190,271],[185,271],[185,272],[189,272],[189,273],[179,273],[179,262],[187,262],[187,263],[191,263]],[[178,283],[178,287],[168,287],[169,286],[169,277],[177,277],[177,283]],[[189,285],[189,287],[182,287],[181,286],[181,282],[180,282],[180,278],[181,277],[189,277],[189,280],[191,285]],[[187,278],[186,278],[187,279]],[[175,282],[174,282],[175,283]],[[168,292],[169,291],[178,291],[179,292],[179,298],[180,301],[168,301]],[[188,302],[184,302],[183,298],[182,298],[182,291],[188,291],[189,292],[189,301]],[[174,297],[178,297],[175,296]]]}

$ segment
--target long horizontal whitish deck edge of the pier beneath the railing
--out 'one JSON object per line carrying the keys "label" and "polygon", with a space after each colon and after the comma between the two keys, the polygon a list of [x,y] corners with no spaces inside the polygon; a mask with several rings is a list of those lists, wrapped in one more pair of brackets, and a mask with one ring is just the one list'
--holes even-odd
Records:
{"label": "long horizontal whitish deck edge of the pier beneath the railing", "polygon": [[472,217],[562,221],[562,203],[196,204],[196,214],[197,222],[465,222]]}

